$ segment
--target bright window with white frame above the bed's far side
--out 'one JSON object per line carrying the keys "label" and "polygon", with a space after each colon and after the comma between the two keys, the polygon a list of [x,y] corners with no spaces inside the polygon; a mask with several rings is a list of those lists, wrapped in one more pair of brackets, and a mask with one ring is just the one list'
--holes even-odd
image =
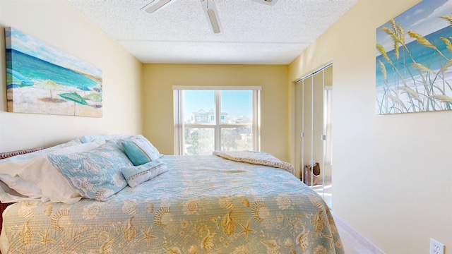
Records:
{"label": "bright window with white frame above the bed's far side", "polygon": [[174,153],[260,150],[261,87],[174,86]]}

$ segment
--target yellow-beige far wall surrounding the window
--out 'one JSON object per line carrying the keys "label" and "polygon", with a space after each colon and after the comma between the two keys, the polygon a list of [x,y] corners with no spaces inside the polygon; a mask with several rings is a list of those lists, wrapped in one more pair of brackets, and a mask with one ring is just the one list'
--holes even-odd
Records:
{"label": "yellow-beige far wall surrounding the window", "polygon": [[261,150],[288,159],[287,66],[145,64],[143,135],[174,154],[173,85],[261,85]]}

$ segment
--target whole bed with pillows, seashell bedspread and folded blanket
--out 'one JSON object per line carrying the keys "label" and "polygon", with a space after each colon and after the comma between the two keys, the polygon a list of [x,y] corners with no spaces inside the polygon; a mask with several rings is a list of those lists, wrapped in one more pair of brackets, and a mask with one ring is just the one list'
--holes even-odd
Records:
{"label": "whole bed with pillows, seashell bedspread and folded blanket", "polygon": [[37,189],[1,190],[1,253],[343,253],[325,202],[271,155],[160,155],[141,135],[71,142],[0,160],[0,179],[23,167]]}

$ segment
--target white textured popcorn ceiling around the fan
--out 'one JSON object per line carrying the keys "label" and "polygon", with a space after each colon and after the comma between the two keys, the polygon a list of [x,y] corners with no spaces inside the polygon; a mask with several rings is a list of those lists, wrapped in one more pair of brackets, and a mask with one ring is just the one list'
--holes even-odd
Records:
{"label": "white textured popcorn ceiling around the fan", "polygon": [[223,28],[214,35],[200,0],[156,13],[152,0],[68,0],[142,63],[288,64],[358,0],[214,0]]}

